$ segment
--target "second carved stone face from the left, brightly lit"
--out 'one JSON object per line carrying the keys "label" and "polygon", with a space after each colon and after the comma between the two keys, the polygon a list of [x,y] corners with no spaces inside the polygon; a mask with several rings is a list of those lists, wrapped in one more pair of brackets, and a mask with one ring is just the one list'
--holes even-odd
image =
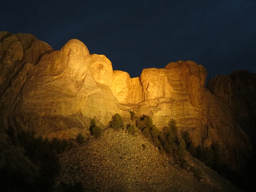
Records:
{"label": "second carved stone face from the left, brightly lit", "polygon": [[105,55],[93,54],[91,76],[97,83],[108,86],[112,83],[113,68],[110,60]]}

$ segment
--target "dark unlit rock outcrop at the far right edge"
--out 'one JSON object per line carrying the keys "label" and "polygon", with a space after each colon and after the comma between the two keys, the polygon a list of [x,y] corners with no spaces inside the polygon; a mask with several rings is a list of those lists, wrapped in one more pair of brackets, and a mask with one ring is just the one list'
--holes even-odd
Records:
{"label": "dark unlit rock outcrop at the far right edge", "polygon": [[207,87],[231,109],[236,123],[256,148],[256,74],[235,71],[231,75],[216,76],[209,80]]}

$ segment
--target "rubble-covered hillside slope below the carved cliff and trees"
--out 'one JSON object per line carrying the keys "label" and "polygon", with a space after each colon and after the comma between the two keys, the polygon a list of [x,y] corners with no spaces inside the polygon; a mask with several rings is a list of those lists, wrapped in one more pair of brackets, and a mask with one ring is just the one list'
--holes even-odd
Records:
{"label": "rubble-covered hillside slope below the carved cliff and trees", "polygon": [[87,192],[240,191],[189,154],[186,160],[189,168],[183,170],[141,133],[108,128],[101,138],[61,154],[55,189],[79,183]]}

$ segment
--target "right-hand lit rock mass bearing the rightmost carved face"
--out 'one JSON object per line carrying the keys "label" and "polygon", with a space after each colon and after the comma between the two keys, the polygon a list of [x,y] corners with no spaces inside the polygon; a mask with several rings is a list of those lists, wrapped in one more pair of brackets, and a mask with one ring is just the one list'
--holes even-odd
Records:
{"label": "right-hand lit rock mass bearing the rightmost carved face", "polygon": [[234,122],[230,109],[204,87],[206,76],[205,68],[193,61],[172,62],[165,69],[144,69],[144,100],[139,103],[139,113],[149,114],[157,127],[176,119],[178,128],[188,131],[197,145],[218,142],[223,146],[222,161],[236,159],[232,165],[236,167],[244,157],[237,158],[235,151],[251,150],[249,138]]}

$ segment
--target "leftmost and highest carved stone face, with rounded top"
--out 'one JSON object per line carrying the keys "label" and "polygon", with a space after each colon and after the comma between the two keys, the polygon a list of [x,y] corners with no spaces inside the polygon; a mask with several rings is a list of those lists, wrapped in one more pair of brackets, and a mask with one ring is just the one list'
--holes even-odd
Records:
{"label": "leftmost and highest carved stone face, with rounded top", "polygon": [[90,62],[85,58],[89,55],[87,47],[80,40],[69,40],[61,49],[61,65],[66,71],[75,74],[86,73]]}

